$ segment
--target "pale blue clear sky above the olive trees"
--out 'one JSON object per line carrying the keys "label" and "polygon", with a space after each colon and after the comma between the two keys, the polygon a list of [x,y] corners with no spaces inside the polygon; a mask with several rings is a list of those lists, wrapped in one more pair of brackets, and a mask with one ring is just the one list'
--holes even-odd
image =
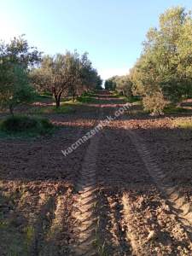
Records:
{"label": "pale blue clear sky above the olive trees", "polygon": [[89,52],[102,79],[124,75],[151,26],[172,6],[192,0],[0,0],[0,39],[26,34],[44,54]]}

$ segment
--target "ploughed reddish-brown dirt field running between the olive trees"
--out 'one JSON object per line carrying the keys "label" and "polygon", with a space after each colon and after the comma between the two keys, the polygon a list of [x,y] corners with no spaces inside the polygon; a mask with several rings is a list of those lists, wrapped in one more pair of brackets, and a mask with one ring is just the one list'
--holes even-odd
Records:
{"label": "ploughed reddish-brown dirt field running between the olive trees", "polygon": [[124,104],[103,91],[50,114],[53,137],[1,138],[0,255],[192,255],[192,131],[174,125],[189,114],[132,104],[61,153]]}

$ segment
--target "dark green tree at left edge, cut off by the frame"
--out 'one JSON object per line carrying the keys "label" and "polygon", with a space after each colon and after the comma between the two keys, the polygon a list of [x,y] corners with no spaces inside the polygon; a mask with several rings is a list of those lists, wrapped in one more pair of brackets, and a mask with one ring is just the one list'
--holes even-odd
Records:
{"label": "dark green tree at left edge, cut off by the frame", "polygon": [[0,107],[13,113],[17,105],[32,102],[35,92],[28,81],[28,68],[38,61],[37,49],[22,37],[0,44]]}

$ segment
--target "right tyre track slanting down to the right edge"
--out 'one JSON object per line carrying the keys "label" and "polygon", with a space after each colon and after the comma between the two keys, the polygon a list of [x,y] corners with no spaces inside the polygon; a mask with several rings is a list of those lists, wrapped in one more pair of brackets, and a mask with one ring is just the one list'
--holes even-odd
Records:
{"label": "right tyre track slanting down to the right edge", "polygon": [[154,157],[151,156],[148,148],[146,148],[142,139],[134,131],[128,131],[127,135],[131,138],[131,142],[136,146],[137,152],[143,160],[149,175],[153,178],[158,189],[166,196],[166,200],[172,207],[172,211],[176,214],[183,227],[188,232],[189,239],[192,241],[192,205],[186,201],[183,193],[179,188],[172,186],[167,181],[167,174],[161,171],[160,167],[156,164]]}

